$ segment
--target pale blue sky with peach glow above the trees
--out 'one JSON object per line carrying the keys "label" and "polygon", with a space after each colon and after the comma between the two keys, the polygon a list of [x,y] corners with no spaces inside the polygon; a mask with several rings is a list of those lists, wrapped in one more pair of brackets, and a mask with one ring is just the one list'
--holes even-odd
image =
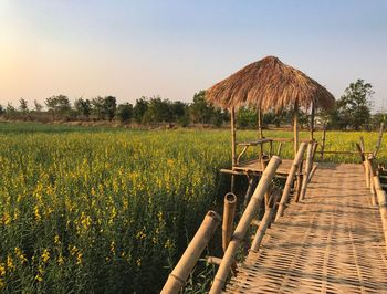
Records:
{"label": "pale blue sky with peach glow above the trees", "polygon": [[275,55],[339,98],[374,86],[387,111],[384,0],[0,0],[0,104],[65,94],[190,102]]}

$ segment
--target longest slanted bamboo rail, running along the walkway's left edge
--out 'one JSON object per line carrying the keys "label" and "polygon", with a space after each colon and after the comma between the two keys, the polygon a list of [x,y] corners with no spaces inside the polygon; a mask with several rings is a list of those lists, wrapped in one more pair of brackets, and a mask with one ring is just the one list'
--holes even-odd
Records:
{"label": "longest slanted bamboo rail, running along the walkway's left edge", "polygon": [[218,269],[218,272],[215,276],[210,293],[220,293],[222,287],[226,284],[227,276],[229,275],[231,265],[233,264],[236,253],[238,251],[238,248],[240,245],[240,242],[243,240],[250,223],[254,217],[254,214],[258,211],[258,208],[260,207],[263,196],[265,191],[268,190],[271,180],[273,179],[275,175],[275,170],[281,165],[281,158],[278,156],[273,156],[266,167],[266,169],[263,171],[263,175],[257,186],[257,189],[251,197],[251,200],[245,208],[236,231],[233,232],[230,243],[224,252],[222,262]]}

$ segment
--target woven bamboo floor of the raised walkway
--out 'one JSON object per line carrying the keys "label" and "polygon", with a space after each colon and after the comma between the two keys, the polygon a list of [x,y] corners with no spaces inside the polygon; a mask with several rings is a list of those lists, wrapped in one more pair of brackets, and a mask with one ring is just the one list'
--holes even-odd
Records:
{"label": "woven bamboo floor of the raised walkway", "polygon": [[306,198],[272,224],[226,292],[387,293],[381,221],[363,166],[320,164]]}

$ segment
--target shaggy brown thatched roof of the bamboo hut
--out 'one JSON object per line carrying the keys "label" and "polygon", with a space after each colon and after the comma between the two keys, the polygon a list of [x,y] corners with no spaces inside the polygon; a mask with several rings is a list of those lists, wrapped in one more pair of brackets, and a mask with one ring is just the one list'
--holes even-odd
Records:
{"label": "shaggy brown thatched roof of the bamboo hut", "polygon": [[223,108],[252,106],[262,111],[279,111],[295,102],[303,107],[314,102],[315,107],[326,109],[335,102],[316,81],[274,56],[251,63],[217,83],[206,91],[206,97]]}

